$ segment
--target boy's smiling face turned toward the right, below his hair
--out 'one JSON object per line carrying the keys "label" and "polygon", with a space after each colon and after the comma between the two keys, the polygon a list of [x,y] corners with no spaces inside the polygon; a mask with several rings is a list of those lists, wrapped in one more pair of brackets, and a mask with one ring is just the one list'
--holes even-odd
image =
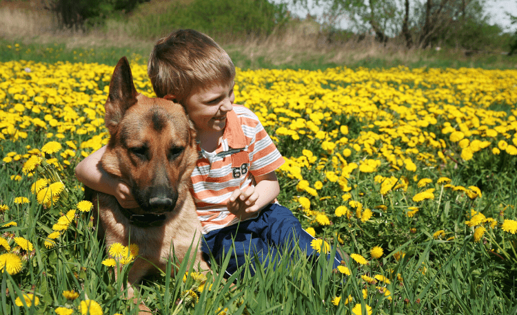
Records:
{"label": "boy's smiling face turned toward the right, below his hair", "polygon": [[194,89],[185,98],[185,109],[199,133],[221,132],[226,126],[226,113],[235,100],[234,81],[227,85],[215,83]]}

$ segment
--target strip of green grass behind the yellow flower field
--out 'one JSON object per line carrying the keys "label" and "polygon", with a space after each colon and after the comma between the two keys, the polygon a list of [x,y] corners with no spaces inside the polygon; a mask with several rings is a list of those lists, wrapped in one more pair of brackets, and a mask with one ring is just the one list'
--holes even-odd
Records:
{"label": "strip of green grass behind the yellow flower field", "polygon": [[[148,55],[152,50],[153,43],[143,41],[139,45],[132,46],[103,46],[89,48],[68,48],[66,38],[57,39],[55,43],[40,44],[37,41],[24,43],[23,40],[13,41],[0,39],[0,61],[19,61],[30,60],[43,63],[55,63],[57,61],[68,61],[70,63],[100,63],[105,65],[116,65],[121,56],[128,56],[132,63],[147,63]],[[15,45],[19,45],[16,47]],[[244,54],[245,43],[227,43],[223,48],[234,61],[234,64],[241,69],[305,69],[317,70],[330,67],[346,66],[352,69],[358,67],[387,69],[404,65],[410,69],[417,67],[434,68],[460,68],[476,67],[482,69],[515,69],[517,67],[517,55],[505,56],[501,54],[479,54],[466,57],[461,52],[434,52],[420,51],[415,52],[416,58],[403,58],[390,56],[387,54],[382,57],[369,57],[358,60],[345,60],[343,62],[329,62],[336,55],[336,51],[328,51],[324,54],[307,52],[290,52],[287,48],[279,48],[285,52],[279,56],[269,56],[261,52],[261,47],[254,56],[249,53]],[[352,56],[355,52],[351,52]],[[282,57],[283,56],[283,57]],[[285,61],[288,56],[292,56],[292,61]]]}

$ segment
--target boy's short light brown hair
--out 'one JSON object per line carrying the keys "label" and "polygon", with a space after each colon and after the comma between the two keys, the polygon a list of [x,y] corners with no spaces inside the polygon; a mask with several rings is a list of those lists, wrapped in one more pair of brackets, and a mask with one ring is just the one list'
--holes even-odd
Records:
{"label": "boy's short light brown hair", "polygon": [[209,36],[195,30],[176,30],[154,45],[148,75],[157,97],[168,96],[183,104],[196,88],[229,84],[235,77],[235,67]]}

